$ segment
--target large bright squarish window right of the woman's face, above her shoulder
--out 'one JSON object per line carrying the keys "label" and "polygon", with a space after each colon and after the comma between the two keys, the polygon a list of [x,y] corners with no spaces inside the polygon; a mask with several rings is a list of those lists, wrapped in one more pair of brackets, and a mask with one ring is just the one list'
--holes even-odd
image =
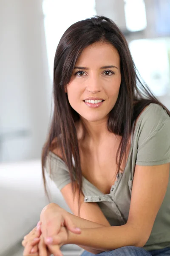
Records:
{"label": "large bright squarish window right of the woman's face, above her shoulder", "polygon": [[156,96],[170,91],[168,46],[168,38],[133,40],[129,44],[136,68]]}

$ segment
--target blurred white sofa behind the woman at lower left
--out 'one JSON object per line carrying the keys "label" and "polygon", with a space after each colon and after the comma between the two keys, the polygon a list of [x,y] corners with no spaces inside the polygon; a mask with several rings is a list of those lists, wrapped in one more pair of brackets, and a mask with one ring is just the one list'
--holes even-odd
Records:
{"label": "blurred white sofa behind the woman at lower left", "polygon": [[[55,184],[47,177],[51,201],[71,212]],[[0,256],[22,256],[23,237],[36,226],[48,200],[40,160],[0,163]],[[84,251],[75,244],[61,248],[64,256]]]}

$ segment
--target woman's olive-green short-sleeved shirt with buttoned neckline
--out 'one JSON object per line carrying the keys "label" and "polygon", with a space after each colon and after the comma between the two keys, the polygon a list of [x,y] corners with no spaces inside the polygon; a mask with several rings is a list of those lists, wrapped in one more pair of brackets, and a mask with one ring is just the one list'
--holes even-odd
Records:
{"label": "woman's olive-green short-sleeved shirt with buttoned neckline", "polygon": [[[68,167],[52,152],[48,154],[47,160],[46,171],[49,174],[51,163],[50,177],[61,190],[71,182]],[[170,163],[170,116],[160,105],[151,103],[136,122],[124,172],[117,177],[110,193],[104,195],[82,176],[84,201],[96,202],[111,226],[123,225],[128,219],[135,165],[154,166],[164,163]],[[144,249],[157,250],[164,247],[170,247],[170,178],[164,201]]]}

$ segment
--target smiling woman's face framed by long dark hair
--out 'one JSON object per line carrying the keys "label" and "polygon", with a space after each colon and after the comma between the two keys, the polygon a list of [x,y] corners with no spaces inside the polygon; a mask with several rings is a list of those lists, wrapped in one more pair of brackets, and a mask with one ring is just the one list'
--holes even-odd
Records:
{"label": "smiling woman's face framed by long dark hair", "polygon": [[111,44],[97,42],[82,51],[65,92],[80,118],[94,122],[108,118],[118,98],[120,84],[118,51]]}

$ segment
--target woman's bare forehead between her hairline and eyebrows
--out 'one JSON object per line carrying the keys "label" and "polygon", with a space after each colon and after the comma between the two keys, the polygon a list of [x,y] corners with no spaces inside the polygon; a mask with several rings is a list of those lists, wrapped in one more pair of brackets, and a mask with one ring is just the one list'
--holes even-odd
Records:
{"label": "woman's bare forehead between her hairline and eyebrows", "polygon": [[94,64],[95,62],[100,64],[105,61],[107,61],[106,64],[111,64],[113,61],[114,64],[118,64],[120,61],[119,53],[112,44],[97,42],[83,49],[79,59],[77,60],[77,64]]}

